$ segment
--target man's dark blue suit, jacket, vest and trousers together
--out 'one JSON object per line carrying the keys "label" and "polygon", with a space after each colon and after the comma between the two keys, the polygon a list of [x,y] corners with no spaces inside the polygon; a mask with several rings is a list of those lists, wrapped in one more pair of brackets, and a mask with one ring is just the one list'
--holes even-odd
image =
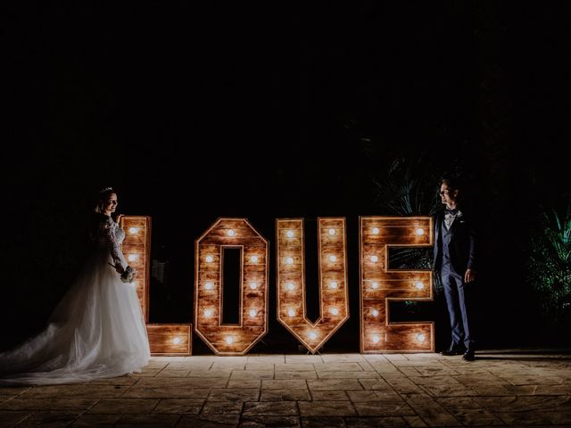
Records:
{"label": "man's dark blue suit, jacket, vest and trousers together", "polygon": [[444,226],[445,211],[434,222],[434,270],[443,280],[444,295],[450,315],[451,347],[474,349],[473,311],[470,292],[474,284],[464,282],[467,269],[476,271],[476,227],[469,212],[459,210],[450,228]]}

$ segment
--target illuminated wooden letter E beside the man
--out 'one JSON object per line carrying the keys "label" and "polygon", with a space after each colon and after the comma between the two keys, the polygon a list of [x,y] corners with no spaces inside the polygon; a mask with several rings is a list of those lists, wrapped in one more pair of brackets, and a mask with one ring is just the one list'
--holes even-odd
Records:
{"label": "illuminated wooden letter E beside the man", "polygon": [[434,352],[434,323],[392,323],[390,300],[433,300],[432,271],[388,267],[394,247],[433,244],[432,218],[360,217],[360,351]]}

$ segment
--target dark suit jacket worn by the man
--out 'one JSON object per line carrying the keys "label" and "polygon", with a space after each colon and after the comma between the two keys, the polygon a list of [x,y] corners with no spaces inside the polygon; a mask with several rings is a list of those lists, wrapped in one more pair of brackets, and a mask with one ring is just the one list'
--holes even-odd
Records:
{"label": "dark suit jacket worn by the man", "polygon": [[[452,268],[464,276],[466,269],[478,270],[477,266],[477,234],[474,218],[469,211],[459,209],[461,215],[454,219],[449,233],[451,234],[449,251]],[[434,270],[439,271],[443,263],[443,219],[444,210],[440,211],[434,221]]]}

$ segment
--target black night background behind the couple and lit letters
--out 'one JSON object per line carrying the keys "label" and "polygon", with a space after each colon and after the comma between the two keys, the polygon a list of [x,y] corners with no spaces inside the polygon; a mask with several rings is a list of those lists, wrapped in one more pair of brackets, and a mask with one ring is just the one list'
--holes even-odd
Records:
{"label": "black night background behind the couple and lit letters", "polygon": [[[217,218],[269,239],[263,352],[297,346],[274,319],[275,218],[314,239],[318,217],[346,217],[352,317],[324,351],[358,351],[358,220],[385,214],[374,179],[397,158],[471,177],[481,346],[564,342],[538,326],[524,271],[538,210],[569,193],[566,2],[194,3],[2,6],[3,346],[42,328],[112,185],[168,262],[152,322],[192,320],[194,239]],[[408,316],[447,342],[442,296],[422,305]]]}

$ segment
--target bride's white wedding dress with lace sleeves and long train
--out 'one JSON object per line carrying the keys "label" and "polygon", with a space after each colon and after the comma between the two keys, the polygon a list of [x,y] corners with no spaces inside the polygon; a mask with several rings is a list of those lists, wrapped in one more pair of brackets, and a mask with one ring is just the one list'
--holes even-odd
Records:
{"label": "bride's white wedding dress with lace sleeves and long train", "polygon": [[97,250],[42,333],[0,354],[0,385],[85,382],[138,371],[150,357],[137,292],[110,263],[127,261],[125,232],[110,217],[97,226]]}

